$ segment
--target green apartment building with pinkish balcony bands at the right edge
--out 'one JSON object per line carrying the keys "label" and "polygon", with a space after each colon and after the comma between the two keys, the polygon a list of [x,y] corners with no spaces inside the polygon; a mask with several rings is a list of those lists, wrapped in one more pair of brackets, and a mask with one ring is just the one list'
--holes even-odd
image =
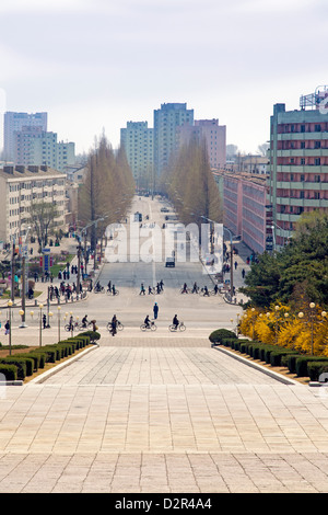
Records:
{"label": "green apartment building with pinkish balcony bands at the right edge", "polygon": [[300,215],[328,210],[327,87],[300,99],[300,110],[276,104],[270,117],[268,209],[272,238],[283,245],[293,234]]}

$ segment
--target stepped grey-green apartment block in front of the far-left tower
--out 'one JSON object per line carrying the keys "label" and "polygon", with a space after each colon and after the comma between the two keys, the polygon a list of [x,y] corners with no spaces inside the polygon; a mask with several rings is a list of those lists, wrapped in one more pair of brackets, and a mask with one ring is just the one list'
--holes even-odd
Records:
{"label": "stepped grey-green apartment block in front of the far-left tower", "polygon": [[75,161],[75,146],[57,142],[57,134],[42,127],[23,127],[14,131],[13,161],[23,167],[47,165],[63,171]]}

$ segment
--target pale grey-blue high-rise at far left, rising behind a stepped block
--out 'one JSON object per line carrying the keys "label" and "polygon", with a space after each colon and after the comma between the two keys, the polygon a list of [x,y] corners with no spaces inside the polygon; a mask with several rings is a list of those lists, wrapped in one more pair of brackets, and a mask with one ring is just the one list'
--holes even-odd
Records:
{"label": "pale grey-blue high-rise at far left, rising behind a stepped block", "polygon": [[7,161],[14,159],[14,133],[24,127],[40,127],[47,130],[47,113],[15,113],[8,111],[3,117],[3,153]]}

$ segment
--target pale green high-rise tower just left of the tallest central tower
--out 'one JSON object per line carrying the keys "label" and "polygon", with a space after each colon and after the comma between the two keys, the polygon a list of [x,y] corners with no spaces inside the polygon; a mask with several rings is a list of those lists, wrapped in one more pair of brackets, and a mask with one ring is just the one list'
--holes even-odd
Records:
{"label": "pale green high-rise tower just left of the tallest central tower", "polygon": [[128,122],[127,127],[120,129],[120,145],[125,147],[128,163],[139,186],[153,174],[153,129],[148,127],[148,122]]}

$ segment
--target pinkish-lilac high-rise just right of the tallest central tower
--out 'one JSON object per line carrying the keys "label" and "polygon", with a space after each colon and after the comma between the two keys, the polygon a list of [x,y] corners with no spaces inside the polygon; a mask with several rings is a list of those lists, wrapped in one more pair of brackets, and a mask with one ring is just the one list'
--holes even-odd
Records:
{"label": "pinkish-lilac high-rise just right of the tallest central tower", "polygon": [[220,169],[226,162],[226,126],[219,119],[195,119],[194,125],[185,123],[177,127],[177,148],[188,144],[191,137],[203,140],[211,168]]}

